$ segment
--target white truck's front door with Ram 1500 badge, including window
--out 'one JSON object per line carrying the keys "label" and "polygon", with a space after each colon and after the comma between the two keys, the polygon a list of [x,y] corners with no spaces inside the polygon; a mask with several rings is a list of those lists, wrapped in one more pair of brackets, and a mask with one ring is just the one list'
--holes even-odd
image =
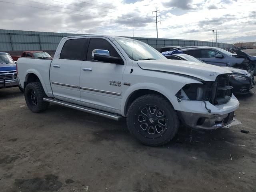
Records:
{"label": "white truck's front door with Ram 1500 badge, including window", "polygon": [[107,38],[90,39],[87,57],[84,58],[80,70],[81,101],[85,106],[115,112],[120,110],[122,79],[126,64],[93,60],[92,51],[95,49],[108,50],[110,56],[121,57],[115,45]]}

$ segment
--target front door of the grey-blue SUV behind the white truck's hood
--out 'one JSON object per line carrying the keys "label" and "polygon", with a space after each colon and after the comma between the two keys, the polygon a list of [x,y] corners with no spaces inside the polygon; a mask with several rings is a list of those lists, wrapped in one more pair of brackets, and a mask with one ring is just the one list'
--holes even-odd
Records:
{"label": "front door of the grey-blue SUV behind the white truck's hood", "polygon": [[217,65],[217,66],[226,66],[226,58],[223,55],[223,58],[216,58],[216,54],[221,54],[220,52],[214,49],[201,49],[200,60],[205,63]]}

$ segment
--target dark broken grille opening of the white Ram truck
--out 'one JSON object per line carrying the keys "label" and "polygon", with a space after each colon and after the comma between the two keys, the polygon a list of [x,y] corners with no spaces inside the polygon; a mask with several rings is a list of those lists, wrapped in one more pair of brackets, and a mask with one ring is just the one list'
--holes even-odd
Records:
{"label": "dark broken grille opening of the white Ram truck", "polygon": [[216,78],[211,96],[214,105],[221,105],[230,101],[233,87],[229,85],[229,80],[228,74],[222,74]]}

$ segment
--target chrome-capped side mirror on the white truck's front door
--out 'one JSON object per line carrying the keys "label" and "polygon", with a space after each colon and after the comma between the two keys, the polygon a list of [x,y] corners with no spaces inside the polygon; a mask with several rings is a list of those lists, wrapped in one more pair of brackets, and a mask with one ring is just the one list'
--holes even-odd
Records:
{"label": "chrome-capped side mirror on the white truck's front door", "polygon": [[122,60],[122,58],[110,56],[108,50],[94,49],[92,51],[92,58],[96,61],[115,63],[120,65],[124,64],[124,61]]}

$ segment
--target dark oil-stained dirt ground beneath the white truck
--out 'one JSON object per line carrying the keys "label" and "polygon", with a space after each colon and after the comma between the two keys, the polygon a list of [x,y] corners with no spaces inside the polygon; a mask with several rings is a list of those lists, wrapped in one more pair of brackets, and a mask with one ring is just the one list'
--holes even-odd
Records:
{"label": "dark oil-stained dirt ground beneath the white truck", "polygon": [[168,145],[148,147],[125,121],[53,104],[34,114],[18,88],[2,89],[0,192],[256,191],[256,95],[238,98],[242,124],[180,128]]}

